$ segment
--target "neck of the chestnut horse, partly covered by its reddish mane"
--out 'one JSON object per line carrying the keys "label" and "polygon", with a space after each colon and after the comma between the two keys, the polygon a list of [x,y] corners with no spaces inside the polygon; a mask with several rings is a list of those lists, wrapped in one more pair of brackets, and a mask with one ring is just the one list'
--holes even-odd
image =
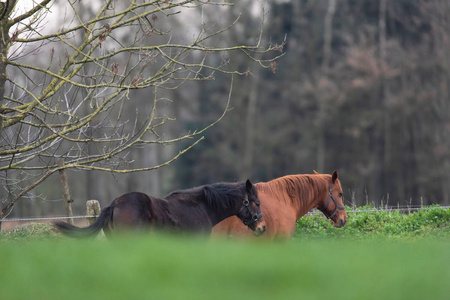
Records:
{"label": "neck of the chestnut horse, partly covered by its reddish mane", "polygon": [[269,182],[256,184],[257,189],[273,193],[273,198],[282,199],[296,212],[297,220],[311,209],[320,206],[328,192],[330,175],[288,175]]}

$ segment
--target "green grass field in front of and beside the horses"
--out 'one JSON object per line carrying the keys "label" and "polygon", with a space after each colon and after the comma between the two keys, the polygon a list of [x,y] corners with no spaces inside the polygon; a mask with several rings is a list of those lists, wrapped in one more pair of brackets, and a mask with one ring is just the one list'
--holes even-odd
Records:
{"label": "green grass field in front of and beside the horses", "polygon": [[272,243],[68,240],[41,225],[0,235],[0,299],[448,299],[450,214],[440,213],[355,214],[344,229],[310,216]]}

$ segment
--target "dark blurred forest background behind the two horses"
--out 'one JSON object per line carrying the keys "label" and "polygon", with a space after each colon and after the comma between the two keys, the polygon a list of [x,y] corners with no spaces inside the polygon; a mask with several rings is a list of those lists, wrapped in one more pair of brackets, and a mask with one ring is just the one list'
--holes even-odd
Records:
{"label": "dark blurred forest background behind the two horses", "polygon": [[[285,55],[263,69],[244,55],[211,54],[208,59],[247,71],[234,78],[225,118],[162,169],[126,175],[69,171],[75,212],[83,214],[88,199],[105,206],[133,190],[164,196],[217,181],[268,181],[313,170],[338,170],[348,205],[449,205],[450,3],[256,2],[236,1],[203,17],[229,23],[241,15],[228,39],[245,44],[258,35],[264,16],[263,40],[280,45]],[[214,81],[168,91],[175,101],[166,110],[177,119],[177,130],[214,121],[230,82],[217,74]],[[130,110],[145,109],[145,91],[132,96],[139,101]],[[129,155],[137,163],[158,162],[178,151],[166,146]],[[44,197],[20,201],[14,215],[63,213],[54,177],[38,188]]]}

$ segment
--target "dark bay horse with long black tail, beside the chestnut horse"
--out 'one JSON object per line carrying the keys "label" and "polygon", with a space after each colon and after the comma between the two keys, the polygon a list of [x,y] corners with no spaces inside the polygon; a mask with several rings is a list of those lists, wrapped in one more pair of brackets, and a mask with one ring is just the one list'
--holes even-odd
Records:
{"label": "dark bay horse with long black tail, beside the chestnut horse", "polygon": [[257,234],[265,231],[258,194],[246,182],[215,183],[175,191],[160,199],[132,192],[116,198],[105,207],[97,221],[84,228],[65,222],[54,225],[69,236],[105,235],[120,229],[190,231],[209,234],[220,221],[237,216],[239,222]]}

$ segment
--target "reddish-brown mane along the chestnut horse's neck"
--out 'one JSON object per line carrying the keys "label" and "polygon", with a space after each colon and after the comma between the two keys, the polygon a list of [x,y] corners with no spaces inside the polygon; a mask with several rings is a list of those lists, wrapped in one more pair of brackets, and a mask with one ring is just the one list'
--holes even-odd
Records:
{"label": "reddish-brown mane along the chestnut horse's neck", "polygon": [[331,175],[302,174],[286,175],[268,182],[256,183],[256,188],[274,198],[285,201],[300,202],[302,199],[312,199],[323,193]]}

